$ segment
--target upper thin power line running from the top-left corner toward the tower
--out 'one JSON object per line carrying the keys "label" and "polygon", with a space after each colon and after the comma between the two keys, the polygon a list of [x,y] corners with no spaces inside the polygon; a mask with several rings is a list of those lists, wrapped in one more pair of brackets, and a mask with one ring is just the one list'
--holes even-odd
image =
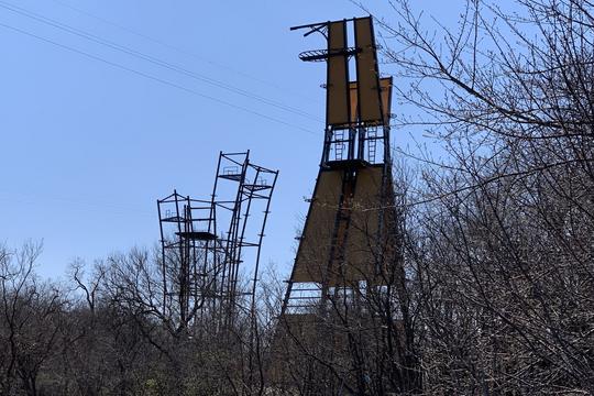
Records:
{"label": "upper thin power line running from the top-left corner toward the tower", "polygon": [[123,46],[121,44],[118,44],[116,42],[112,42],[112,41],[109,41],[109,40],[105,40],[100,36],[97,36],[95,34],[91,34],[91,33],[88,33],[88,32],[85,32],[80,29],[76,29],[76,28],[73,28],[70,25],[67,25],[65,23],[62,23],[62,22],[58,22],[58,21],[55,21],[55,20],[52,20],[50,18],[46,18],[46,16],[43,16],[41,14],[36,14],[34,12],[31,12],[29,10],[25,10],[23,8],[20,8],[18,6],[14,6],[14,4],[11,4],[11,3],[8,3],[8,2],[4,2],[4,1],[1,1],[0,0],[0,7],[6,9],[6,10],[9,10],[11,12],[14,12],[14,13],[18,13],[18,14],[21,14],[23,16],[26,16],[26,18],[30,18],[30,19],[33,19],[35,21],[38,21],[38,22],[42,22],[42,23],[45,23],[47,25],[51,25],[53,28],[56,28],[56,29],[59,29],[59,30],[63,30],[65,32],[68,32],[70,34],[74,34],[74,35],[77,35],[79,37],[82,37],[82,38],[86,38],[86,40],[89,40],[91,42],[95,42],[97,44],[100,44],[100,45],[103,45],[103,46],[107,46],[107,47],[110,47],[112,50],[116,50],[116,51],[119,51],[119,52],[123,52],[128,55],[131,55],[131,56],[134,56],[134,57],[138,57],[138,58],[141,58],[143,61],[146,61],[146,62],[150,62],[154,65],[157,65],[157,66],[161,66],[161,67],[164,67],[164,68],[167,68],[169,70],[173,70],[173,72],[176,72],[176,73],[179,73],[179,74],[183,74],[185,76],[188,76],[190,78],[194,78],[194,79],[197,79],[199,81],[202,81],[202,82],[207,82],[207,84],[210,84],[212,86],[216,86],[216,87],[219,87],[219,88],[222,88],[222,89],[226,89],[226,90],[229,90],[229,91],[232,91],[234,94],[238,94],[238,95],[241,95],[241,96],[244,96],[244,97],[248,97],[250,99],[254,99],[254,100],[257,100],[260,102],[263,102],[265,105],[268,105],[268,106],[273,106],[275,108],[278,108],[280,110],[284,110],[284,111],[287,111],[287,112],[292,112],[294,114],[297,114],[297,116],[300,116],[300,117],[304,117],[304,118],[308,118],[310,120],[315,120],[315,121],[320,121],[321,120],[319,118],[317,118],[316,116],[312,116],[312,114],[309,114],[300,109],[297,109],[297,108],[294,108],[294,107],[290,107],[290,106],[286,106],[284,103],[280,103],[280,102],[277,102],[275,100],[272,100],[272,99],[268,99],[268,98],[264,98],[264,97],[261,97],[261,96],[257,96],[257,95],[254,95],[250,91],[246,91],[244,89],[241,89],[241,88],[238,88],[238,87],[234,87],[230,84],[227,84],[227,82],[222,82],[222,81],[219,81],[219,80],[216,80],[216,79],[212,79],[210,77],[207,77],[207,76],[204,76],[204,75],[200,75],[200,74],[197,74],[195,72],[191,72],[191,70],[188,70],[188,69],[185,69],[180,66],[177,66],[177,65],[173,65],[168,62],[165,62],[165,61],[162,61],[162,59],[158,59],[156,57],[153,57],[151,55],[146,55],[144,53],[141,53],[139,51],[135,51],[131,47],[127,47],[127,46]]}

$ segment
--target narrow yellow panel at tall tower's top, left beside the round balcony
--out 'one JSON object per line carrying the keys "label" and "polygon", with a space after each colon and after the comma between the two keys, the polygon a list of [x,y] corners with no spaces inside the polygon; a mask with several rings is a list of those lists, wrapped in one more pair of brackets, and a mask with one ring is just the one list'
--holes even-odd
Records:
{"label": "narrow yellow panel at tall tower's top, left beside the round balcony", "polygon": [[[346,50],[346,23],[330,22],[328,25],[328,80],[327,118],[328,125],[349,123],[349,68]],[[342,55],[333,55],[340,53]]]}

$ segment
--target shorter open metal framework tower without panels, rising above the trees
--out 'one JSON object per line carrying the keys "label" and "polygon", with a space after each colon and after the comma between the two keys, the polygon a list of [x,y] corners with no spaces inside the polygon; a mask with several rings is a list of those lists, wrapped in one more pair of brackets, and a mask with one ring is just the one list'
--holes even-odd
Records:
{"label": "shorter open metal framework tower without panels, rising above the trees", "polygon": [[237,315],[254,315],[277,176],[278,170],[253,164],[249,151],[221,152],[210,199],[174,190],[157,200],[163,310],[180,330],[219,331]]}

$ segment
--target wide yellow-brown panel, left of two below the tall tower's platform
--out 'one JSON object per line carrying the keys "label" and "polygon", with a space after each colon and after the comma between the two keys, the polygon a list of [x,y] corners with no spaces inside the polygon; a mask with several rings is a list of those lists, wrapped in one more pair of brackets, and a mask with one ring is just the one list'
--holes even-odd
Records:
{"label": "wide yellow-brown panel, left of two below the tall tower's platform", "polygon": [[293,282],[327,280],[332,234],[342,190],[341,170],[321,170],[295,258]]}

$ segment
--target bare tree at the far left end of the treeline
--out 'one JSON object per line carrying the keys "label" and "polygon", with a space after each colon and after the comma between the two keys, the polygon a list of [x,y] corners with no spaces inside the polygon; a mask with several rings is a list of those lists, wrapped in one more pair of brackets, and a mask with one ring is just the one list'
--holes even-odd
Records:
{"label": "bare tree at the far left end of the treeline", "polygon": [[0,249],[0,385],[7,395],[40,394],[40,373],[64,323],[62,293],[34,274],[41,250],[32,242],[16,251]]}

